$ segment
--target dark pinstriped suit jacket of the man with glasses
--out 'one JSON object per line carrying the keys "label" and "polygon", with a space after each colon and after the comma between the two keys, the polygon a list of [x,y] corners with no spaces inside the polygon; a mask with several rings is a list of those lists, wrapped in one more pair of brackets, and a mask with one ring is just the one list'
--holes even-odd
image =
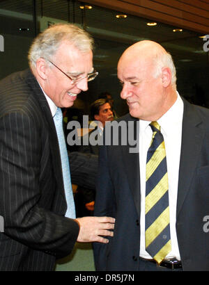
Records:
{"label": "dark pinstriped suit jacket of the man with glasses", "polygon": [[65,218],[52,114],[30,70],[0,81],[0,270],[53,270],[79,226]]}

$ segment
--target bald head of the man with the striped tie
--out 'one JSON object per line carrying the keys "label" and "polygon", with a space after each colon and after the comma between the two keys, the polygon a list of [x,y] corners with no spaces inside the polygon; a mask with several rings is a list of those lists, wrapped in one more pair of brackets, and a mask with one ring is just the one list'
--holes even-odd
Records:
{"label": "bald head of the man with the striped tie", "polygon": [[133,117],[158,120],[176,101],[176,69],[157,42],[143,40],[128,47],[118,61],[118,79]]}

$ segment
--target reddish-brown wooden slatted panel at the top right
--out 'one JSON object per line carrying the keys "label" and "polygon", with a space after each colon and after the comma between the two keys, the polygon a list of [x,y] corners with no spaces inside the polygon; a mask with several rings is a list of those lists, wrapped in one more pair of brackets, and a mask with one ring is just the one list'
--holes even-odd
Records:
{"label": "reddish-brown wooden slatted panel at the top right", "polygon": [[83,2],[170,24],[176,28],[209,34],[209,0],[84,0]]}

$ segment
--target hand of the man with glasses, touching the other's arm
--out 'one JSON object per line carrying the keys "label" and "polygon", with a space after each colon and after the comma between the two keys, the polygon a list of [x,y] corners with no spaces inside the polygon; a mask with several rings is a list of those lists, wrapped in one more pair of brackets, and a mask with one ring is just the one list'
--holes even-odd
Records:
{"label": "hand of the man with glasses, touching the other's arm", "polygon": [[107,238],[102,236],[113,236],[114,218],[110,217],[83,217],[75,219],[80,227],[78,242],[89,243],[97,241],[99,243],[109,243]]}

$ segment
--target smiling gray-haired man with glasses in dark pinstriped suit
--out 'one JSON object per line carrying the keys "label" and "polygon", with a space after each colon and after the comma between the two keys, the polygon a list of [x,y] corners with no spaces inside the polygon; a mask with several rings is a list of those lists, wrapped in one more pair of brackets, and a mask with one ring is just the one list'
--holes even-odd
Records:
{"label": "smiling gray-haired man with glasses in dark pinstriped suit", "polygon": [[92,44],[75,25],[51,26],[33,41],[30,70],[0,83],[0,270],[54,270],[76,241],[106,243],[102,236],[112,235],[112,218],[65,216],[70,172],[62,171],[66,147],[59,147],[53,120],[97,75]]}

